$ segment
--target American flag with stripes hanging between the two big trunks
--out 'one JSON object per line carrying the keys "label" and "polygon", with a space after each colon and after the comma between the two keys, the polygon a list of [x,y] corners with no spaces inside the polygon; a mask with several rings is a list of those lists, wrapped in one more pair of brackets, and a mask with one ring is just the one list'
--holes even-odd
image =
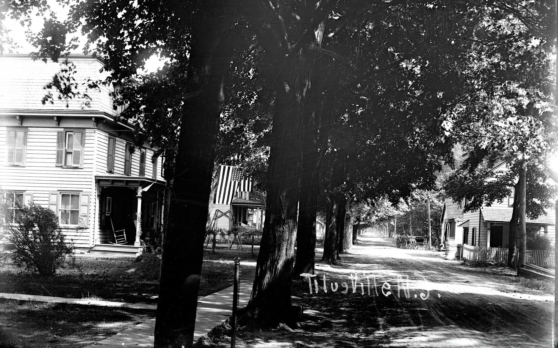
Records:
{"label": "American flag with stripes hanging between the two big trunks", "polygon": [[249,177],[244,177],[242,169],[232,165],[219,165],[217,190],[213,203],[230,205],[235,192],[249,192],[251,190],[252,180]]}

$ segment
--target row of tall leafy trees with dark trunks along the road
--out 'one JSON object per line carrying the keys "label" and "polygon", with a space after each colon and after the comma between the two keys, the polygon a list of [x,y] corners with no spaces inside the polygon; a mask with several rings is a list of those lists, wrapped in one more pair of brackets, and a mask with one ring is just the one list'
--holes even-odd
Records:
{"label": "row of tall leafy trees with dark trunks along the road", "polygon": [[[25,16],[45,6],[9,2],[1,12]],[[550,8],[514,1],[113,0],[70,3],[67,21],[45,20],[33,37],[36,56],[57,60],[74,46],[69,33],[85,35],[87,52],[103,55],[111,72],[91,87],[122,84],[117,104],[129,104],[123,116],[137,125],[138,139],[149,136],[176,154],[155,346],[193,340],[218,153],[246,154],[243,165],[266,190],[256,278],[240,320],[273,326],[295,324],[288,310],[293,270],[313,271],[319,207],[326,216],[323,261],[335,263],[353,239],[345,222],[358,227],[382,199],[397,204],[433,188],[467,125],[481,132],[484,117],[494,127],[504,120],[502,136],[479,133],[472,146],[496,153],[506,136],[518,146],[509,159],[546,151],[522,143],[538,133],[526,138],[515,130],[519,119],[538,122],[532,113],[547,105],[545,86],[519,90],[506,76],[515,68],[519,82],[545,80],[537,63],[549,67]],[[169,61],[138,76],[153,54]],[[505,121],[509,115],[517,120]],[[543,125],[537,129],[546,134]]]}

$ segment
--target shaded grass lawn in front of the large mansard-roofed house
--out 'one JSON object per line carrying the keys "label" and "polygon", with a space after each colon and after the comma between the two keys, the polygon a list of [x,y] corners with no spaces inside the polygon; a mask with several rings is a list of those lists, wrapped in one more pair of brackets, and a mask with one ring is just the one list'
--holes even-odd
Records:
{"label": "shaded grass lawn in front of the large mansard-roofed house", "polygon": [[[257,255],[257,248],[254,253]],[[233,285],[233,260],[254,263],[250,248],[204,252],[199,296]],[[133,258],[76,258],[54,277],[0,266],[0,292],[157,304],[157,280],[107,276]],[[243,264],[240,279],[253,280],[256,267]],[[155,311],[0,299],[0,348],[84,347],[155,316]]]}

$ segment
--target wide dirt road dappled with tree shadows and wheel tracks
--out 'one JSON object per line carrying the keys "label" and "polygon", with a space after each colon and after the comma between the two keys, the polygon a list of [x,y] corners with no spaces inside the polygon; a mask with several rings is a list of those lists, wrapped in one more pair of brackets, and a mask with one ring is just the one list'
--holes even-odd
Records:
{"label": "wide dirt road dappled with tree shadows and wheel tracks", "polygon": [[305,306],[300,329],[240,331],[237,346],[551,346],[554,296],[512,282],[511,271],[397,249],[388,238],[362,241],[336,266],[316,264],[311,294],[308,282],[294,284],[293,301]]}

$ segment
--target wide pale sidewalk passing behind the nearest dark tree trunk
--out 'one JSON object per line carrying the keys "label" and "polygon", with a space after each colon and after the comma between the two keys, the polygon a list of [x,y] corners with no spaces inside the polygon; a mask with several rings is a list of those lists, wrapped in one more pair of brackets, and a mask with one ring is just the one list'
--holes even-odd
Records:
{"label": "wide pale sidewalk passing behind the nearest dark tree trunk", "polygon": [[[238,308],[247,305],[252,292],[252,282],[240,281],[238,293]],[[232,315],[233,287],[201,297],[198,300],[198,311],[196,312],[196,326],[194,329],[194,342],[207,334],[215,326],[218,326]],[[84,348],[109,348],[109,347],[153,347],[155,339],[155,318],[132,326],[118,332],[114,336],[96,342]]]}

